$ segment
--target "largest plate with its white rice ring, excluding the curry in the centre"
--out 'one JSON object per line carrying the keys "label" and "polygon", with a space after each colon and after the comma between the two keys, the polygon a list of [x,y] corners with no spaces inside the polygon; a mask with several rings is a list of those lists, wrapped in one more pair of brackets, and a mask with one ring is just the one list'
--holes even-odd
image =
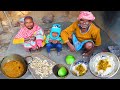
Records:
{"label": "largest plate with its white rice ring, excluding the curry in the centre", "polygon": [[[98,64],[98,62],[102,59],[109,59],[111,62],[111,68],[109,69],[109,73],[105,72],[106,74],[98,74],[98,72],[96,72],[97,68],[96,68],[96,64]],[[119,70],[120,68],[120,61],[118,59],[118,57],[110,52],[101,52],[96,54],[94,57],[92,57],[90,59],[89,62],[89,69],[92,72],[92,74],[94,74],[97,77],[100,78],[110,78],[113,77]]]}

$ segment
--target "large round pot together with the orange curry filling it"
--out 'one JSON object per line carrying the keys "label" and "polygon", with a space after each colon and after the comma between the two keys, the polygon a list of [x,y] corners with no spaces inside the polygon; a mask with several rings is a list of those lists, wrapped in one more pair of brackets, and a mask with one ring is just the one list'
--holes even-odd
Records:
{"label": "large round pot together with the orange curry filling it", "polygon": [[7,78],[20,78],[27,72],[27,62],[24,57],[18,54],[11,54],[3,58],[0,69]]}

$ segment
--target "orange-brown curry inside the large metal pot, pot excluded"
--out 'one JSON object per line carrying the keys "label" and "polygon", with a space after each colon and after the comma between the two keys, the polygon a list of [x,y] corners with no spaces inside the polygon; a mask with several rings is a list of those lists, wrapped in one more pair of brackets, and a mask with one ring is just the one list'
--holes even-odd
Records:
{"label": "orange-brown curry inside the large metal pot, pot excluded", "polygon": [[25,68],[20,61],[13,60],[5,63],[2,70],[6,76],[10,78],[17,78],[23,75]]}

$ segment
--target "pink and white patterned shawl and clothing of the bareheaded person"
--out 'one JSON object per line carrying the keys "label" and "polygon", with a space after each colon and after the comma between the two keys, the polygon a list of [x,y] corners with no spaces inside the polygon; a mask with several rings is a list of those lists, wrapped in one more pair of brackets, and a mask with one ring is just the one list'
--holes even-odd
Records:
{"label": "pink and white patterned shawl and clothing of the bareheaded person", "polygon": [[37,24],[34,24],[33,29],[29,30],[26,27],[23,27],[20,29],[18,34],[15,36],[15,38],[30,38],[32,36],[36,37],[36,40],[30,40],[24,42],[23,46],[26,50],[28,49],[37,49],[37,47],[42,47],[42,42],[44,40],[44,32],[41,27],[39,27]]}

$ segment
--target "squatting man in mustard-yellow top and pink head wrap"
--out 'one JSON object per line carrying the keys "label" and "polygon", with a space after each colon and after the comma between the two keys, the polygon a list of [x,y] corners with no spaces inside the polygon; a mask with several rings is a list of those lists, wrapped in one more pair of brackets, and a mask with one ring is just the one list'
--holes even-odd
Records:
{"label": "squatting man in mustard-yellow top and pink head wrap", "polygon": [[94,20],[91,12],[81,11],[77,21],[61,32],[70,51],[79,51],[83,47],[82,55],[89,56],[95,47],[101,45],[100,29],[92,23]]}

